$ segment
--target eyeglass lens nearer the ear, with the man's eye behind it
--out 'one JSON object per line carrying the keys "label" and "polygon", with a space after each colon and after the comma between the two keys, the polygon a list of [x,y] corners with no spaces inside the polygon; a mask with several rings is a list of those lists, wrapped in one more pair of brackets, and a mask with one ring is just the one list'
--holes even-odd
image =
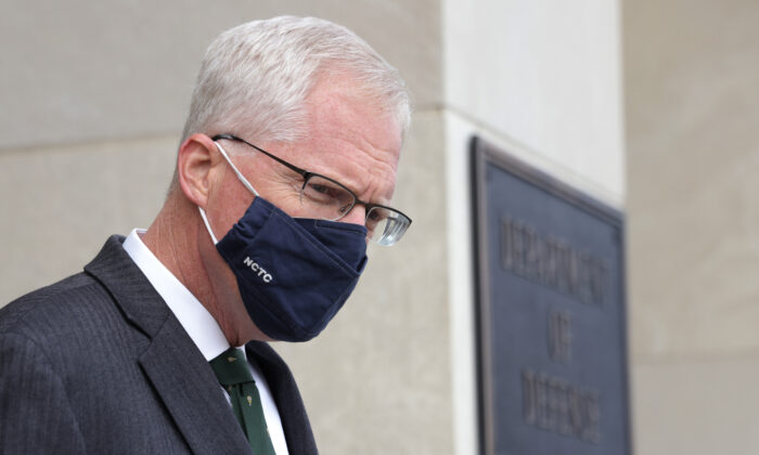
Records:
{"label": "eyeglass lens nearer the ear, with the man's eye behind it", "polygon": [[313,218],[335,221],[353,208],[356,198],[334,180],[311,176],[300,190],[300,204]]}

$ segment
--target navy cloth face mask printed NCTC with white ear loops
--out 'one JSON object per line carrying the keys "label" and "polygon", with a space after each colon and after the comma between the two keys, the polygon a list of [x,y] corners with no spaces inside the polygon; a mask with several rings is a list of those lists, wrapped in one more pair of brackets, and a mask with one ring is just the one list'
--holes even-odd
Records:
{"label": "navy cloth face mask printed NCTC with white ear loops", "polygon": [[256,326],[275,340],[307,341],[326,327],[356,287],[366,264],[366,227],[290,217],[260,197],[216,146],[256,198],[221,240],[198,207],[206,229]]}

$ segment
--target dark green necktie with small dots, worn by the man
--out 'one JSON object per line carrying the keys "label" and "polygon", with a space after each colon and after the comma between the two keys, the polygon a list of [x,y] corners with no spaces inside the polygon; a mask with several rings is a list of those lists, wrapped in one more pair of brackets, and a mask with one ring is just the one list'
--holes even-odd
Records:
{"label": "dark green necktie with small dots, worn by the man", "polygon": [[255,455],[275,455],[266,426],[261,399],[245,355],[230,348],[209,362],[216,377],[229,393],[232,411],[243,427]]}

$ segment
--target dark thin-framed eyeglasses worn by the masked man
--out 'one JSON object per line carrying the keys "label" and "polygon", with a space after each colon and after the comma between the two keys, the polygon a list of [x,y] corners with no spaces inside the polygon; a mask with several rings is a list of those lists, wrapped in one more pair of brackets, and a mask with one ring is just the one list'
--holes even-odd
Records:
{"label": "dark thin-framed eyeglasses worn by the masked man", "polygon": [[214,142],[219,140],[242,142],[256,151],[262,153],[276,162],[286,166],[288,169],[303,177],[304,183],[300,186],[300,205],[314,218],[330,221],[338,221],[344,218],[357,204],[361,204],[366,209],[366,237],[370,240],[384,245],[395,245],[403,236],[406,230],[411,224],[411,219],[401,211],[380,204],[366,203],[359,199],[356,194],[344,184],[319,173],[309,172],[291,165],[282,158],[270,154],[252,143],[240,139],[233,134],[217,134],[211,138]]}

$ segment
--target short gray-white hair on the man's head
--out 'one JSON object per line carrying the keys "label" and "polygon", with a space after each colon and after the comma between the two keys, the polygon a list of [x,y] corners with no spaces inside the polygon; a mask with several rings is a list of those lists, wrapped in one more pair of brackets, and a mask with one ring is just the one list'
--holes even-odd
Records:
{"label": "short gray-white hair on the man's head", "polygon": [[250,141],[296,141],[305,134],[306,98],[327,72],[353,77],[368,101],[394,113],[406,131],[410,99],[396,68],[340,25],[280,16],[231,28],[208,47],[182,141],[242,131]]}

